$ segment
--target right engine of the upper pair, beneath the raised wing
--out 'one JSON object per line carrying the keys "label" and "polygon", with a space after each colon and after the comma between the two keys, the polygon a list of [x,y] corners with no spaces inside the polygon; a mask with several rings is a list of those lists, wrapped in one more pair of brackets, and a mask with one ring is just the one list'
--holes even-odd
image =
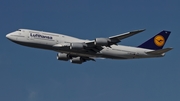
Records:
{"label": "right engine of the upper pair, beneath the raised wing", "polygon": [[108,38],[96,38],[95,41],[94,41],[94,45],[97,45],[97,46],[107,46],[109,45],[109,42],[111,40],[108,39]]}

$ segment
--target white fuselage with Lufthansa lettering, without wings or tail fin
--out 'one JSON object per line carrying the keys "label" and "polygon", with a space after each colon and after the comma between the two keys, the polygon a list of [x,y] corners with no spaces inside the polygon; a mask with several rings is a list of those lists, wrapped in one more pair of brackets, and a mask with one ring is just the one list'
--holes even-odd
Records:
{"label": "white fuselage with Lufthansa lettering, without wings or tail fin", "polygon": [[[146,54],[151,49],[144,49],[138,47],[130,47],[123,45],[111,45],[102,46],[99,52],[93,52],[86,49],[70,49],[68,47],[71,43],[85,43],[90,40],[78,39],[75,37],[56,34],[50,32],[20,29],[18,31],[9,33],[6,37],[24,46],[53,50],[61,53],[70,55],[83,56],[83,57],[100,57],[100,58],[111,58],[111,59],[135,59],[135,58],[149,58],[149,57],[161,57],[161,55],[149,55]],[[62,45],[63,47],[55,47],[56,45]],[[66,47],[67,46],[67,47]]]}

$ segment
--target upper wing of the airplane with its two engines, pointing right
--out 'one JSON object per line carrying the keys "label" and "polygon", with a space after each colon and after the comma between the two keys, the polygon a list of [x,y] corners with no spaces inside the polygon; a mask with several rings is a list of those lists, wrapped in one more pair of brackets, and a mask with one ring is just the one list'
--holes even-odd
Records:
{"label": "upper wing of the airplane with its two engines, pointing right", "polygon": [[102,46],[110,46],[113,44],[117,44],[120,42],[122,39],[128,38],[130,36],[133,36],[135,34],[138,34],[145,29],[142,30],[135,30],[131,32],[126,32],[120,35],[115,35],[111,36],[108,38],[96,38],[95,40],[92,41],[84,41],[84,42],[68,42],[68,43],[59,43],[54,45],[53,47],[56,48],[69,48],[69,49],[74,49],[74,50],[84,50],[88,52],[99,52],[100,50],[103,49]]}

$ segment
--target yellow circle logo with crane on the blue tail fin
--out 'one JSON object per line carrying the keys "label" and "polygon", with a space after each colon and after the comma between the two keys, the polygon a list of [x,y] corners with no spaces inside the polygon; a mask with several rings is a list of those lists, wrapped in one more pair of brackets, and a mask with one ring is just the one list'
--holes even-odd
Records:
{"label": "yellow circle logo with crane on the blue tail fin", "polygon": [[156,44],[156,46],[161,47],[161,46],[164,45],[165,39],[164,39],[164,37],[162,35],[157,35],[154,38],[154,43]]}

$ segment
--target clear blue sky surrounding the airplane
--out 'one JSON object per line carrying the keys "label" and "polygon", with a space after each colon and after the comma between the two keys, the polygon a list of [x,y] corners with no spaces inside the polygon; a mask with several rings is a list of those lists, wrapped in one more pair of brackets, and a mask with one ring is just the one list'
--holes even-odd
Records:
{"label": "clear blue sky surrounding the airplane", "polygon": [[[1,0],[1,101],[179,101],[179,0]],[[122,40],[138,46],[171,31],[163,58],[56,60],[56,52],[17,45],[5,35],[19,28],[82,39],[146,29]]]}

